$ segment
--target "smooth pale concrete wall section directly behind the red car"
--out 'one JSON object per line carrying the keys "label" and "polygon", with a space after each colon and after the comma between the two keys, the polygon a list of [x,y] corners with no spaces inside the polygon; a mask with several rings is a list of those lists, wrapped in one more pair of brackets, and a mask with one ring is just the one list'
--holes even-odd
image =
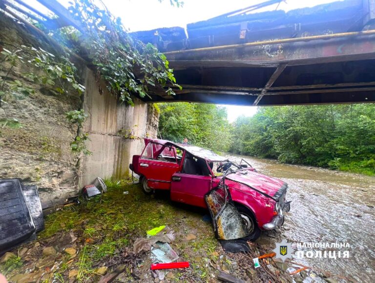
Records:
{"label": "smooth pale concrete wall section directly behind the red car", "polygon": [[90,184],[96,177],[121,179],[129,175],[132,156],[144,147],[143,137],[156,137],[159,114],[152,107],[134,98],[134,107],[126,106],[105,89],[103,94],[93,72],[86,68],[86,92],[83,108],[89,113],[83,131],[89,133],[91,156],[83,157],[79,186]]}

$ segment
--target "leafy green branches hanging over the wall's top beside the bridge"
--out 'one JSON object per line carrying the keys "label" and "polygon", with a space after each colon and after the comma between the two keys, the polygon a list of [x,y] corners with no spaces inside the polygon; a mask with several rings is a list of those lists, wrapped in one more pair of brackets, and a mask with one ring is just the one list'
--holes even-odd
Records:
{"label": "leafy green branches hanging over the wall's top beside the bridge", "polygon": [[180,86],[166,56],[155,46],[131,38],[120,18],[113,17],[103,3],[102,9],[92,0],[70,4],[69,11],[85,31],[80,37],[81,47],[88,52],[111,94],[131,105],[132,94],[150,96],[150,88],[168,86],[165,92],[175,94],[169,86]]}

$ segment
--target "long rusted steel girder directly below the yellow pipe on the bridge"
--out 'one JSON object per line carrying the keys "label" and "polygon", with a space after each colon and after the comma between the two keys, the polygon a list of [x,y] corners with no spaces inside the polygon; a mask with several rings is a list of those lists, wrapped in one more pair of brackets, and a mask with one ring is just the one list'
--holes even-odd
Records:
{"label": "long rusted steel girder directly below the yellow pipe on the bridge", "polygon": [[298,66],[317,63],[355,61],[375,58],[375,35],[335,38],[288,44],[270,43],[243,49],[205,51],[195,54],[171,54],[170,66],[189,67],[277,67],[281,63]]}

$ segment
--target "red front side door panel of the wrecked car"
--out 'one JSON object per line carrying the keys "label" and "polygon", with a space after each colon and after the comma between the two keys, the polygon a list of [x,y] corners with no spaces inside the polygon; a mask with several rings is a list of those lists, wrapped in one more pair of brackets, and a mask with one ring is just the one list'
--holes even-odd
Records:
{"label": "red front side door panel of the wrecked car", "polygon": [[172,201],[207,208],[205,194],[211,189],[212,177],[176,172],[172,175]]}

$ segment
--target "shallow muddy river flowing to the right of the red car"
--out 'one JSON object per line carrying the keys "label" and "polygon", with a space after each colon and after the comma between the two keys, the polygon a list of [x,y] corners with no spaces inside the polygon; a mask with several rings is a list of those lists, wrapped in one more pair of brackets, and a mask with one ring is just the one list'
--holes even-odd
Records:
{"label": "shallow muddy river flowing to the right of the red car", "polygon": [[[261,173],[289,184],[287,200],[292,201],[291,211],[279,231],[281,238],[294,243],[294,248],[297,248],[296,243],[350,245],[346,248],[299,248],[304,250],[305,257],[296,258],[294,254],[296,262],[327,270],[354,282],[375,282],[375,177],[278,164],[273,160],[249,156],[232,156],[229,159],[241,158]],[[306,258],[309,250],[313,250],[312,258]],[[315,258],[318,250],[323,253],[327,250],[327,254],[334,250],[336,259],[328,256]],[[342,255],[338,258],[338,251],[349,251],[349,258]]]}

